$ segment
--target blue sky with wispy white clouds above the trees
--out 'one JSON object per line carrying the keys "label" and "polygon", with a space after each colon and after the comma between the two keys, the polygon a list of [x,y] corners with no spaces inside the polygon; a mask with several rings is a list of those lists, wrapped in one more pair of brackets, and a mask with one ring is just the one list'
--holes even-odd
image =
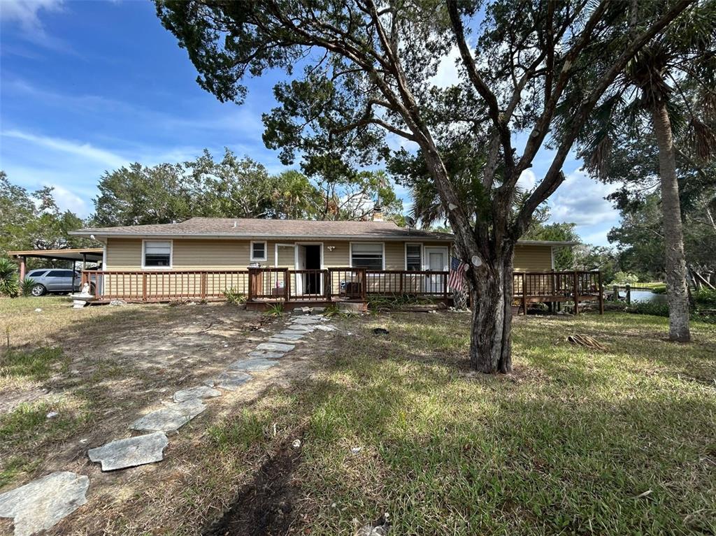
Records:
{"label": "blue sky with wispy white clouds above the trees", "polygon": [[[0,24],[0,168],[29,190],[54,186],[61,208],[92,213],[105,170],[190,160],[204,148],[221,155],[229,147],[272,172],[284,169],[261,141],[261,113],[274,105],[280,75],[251,80],[241,107],[221,104],[198,87],[150,1],[0,0]],[[435,82],[453,77],[447,58]],[[548,164],[548,153],[538,155],[523,185]],[[618,223],[603,199],[610,187],[579,167],[566,162],[552,219],[577,223],[584,240],[606,245]]]}

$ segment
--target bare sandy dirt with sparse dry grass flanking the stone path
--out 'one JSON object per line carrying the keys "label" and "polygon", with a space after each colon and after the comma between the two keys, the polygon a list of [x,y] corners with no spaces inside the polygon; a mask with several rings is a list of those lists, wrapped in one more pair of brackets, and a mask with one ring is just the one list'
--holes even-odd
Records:
{"label": "bare sandy dirt with sparse dry grass flanking the stone path", "polygon": [[[38,320],[34,315],[41,313],[31,306],[34,303],[16,311],[14,326]],[[170,435],[160,464],[102,473],[87,459],[87,449],[132,436],[127,427],[137,417],[159,409],[179,389],[215,379],[228,364],[281,331],[287,319],[223,304],[103,307],[98,313],[98,308],[73,311],[65,303],[51,303],[43,309],[47,316],[37,343],[31,330],[16,331],[16,341],[22,341],[16,349],[59,346],[69,365],[42,381],[19,377],[6,384],[7,389],[0,387],[3,404],[27,401],[41,404],[43,411],[42,422],[24,432],[26,439],[11,437],[0,445],[0,472],[7,469],[0,491],[57,470],[89,476],[87,505],[48,531],[58,535],[182,535],[205,530],[252,481],[265,453],[294,433],[295,424],[271,421],[263,434],[270,439],[245,451],[218,446],[211,428],[241,422],[243,412],[260,405],[267,391],[290,393],[296,381],[311,375],[316,359],[330,346],[321,341],[334,336],[312,333],[296,343],[279,366],[251,372],[253,380],[240,389],[207,401],[203,414]],[[58,400],[62,403],[56,408]],[[62,429],[52,428],[59,421],[44,419],[45,412],[55,409],[58,419],[66,418]],[[11,458],[21,459],[23,467],[10,471],[5,466]],[[279,526],[279,517],[277,511],[264,525]]]}

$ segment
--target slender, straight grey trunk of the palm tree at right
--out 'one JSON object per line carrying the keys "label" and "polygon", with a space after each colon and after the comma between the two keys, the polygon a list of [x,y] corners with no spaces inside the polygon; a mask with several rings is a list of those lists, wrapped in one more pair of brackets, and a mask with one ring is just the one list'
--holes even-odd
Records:
{"label": "slender, straight grey trunk of the palm tree at right", "polygon": [[659,147],[659,175],[662,188],[664,246],[666,248],[667,301],[669,302],[669,338],[687,342],[689,331],[689,296],[684,258],[684,232],[679,205],[679,182],[672,139],[671,121],[666,102],[652,107],[654,133]]}

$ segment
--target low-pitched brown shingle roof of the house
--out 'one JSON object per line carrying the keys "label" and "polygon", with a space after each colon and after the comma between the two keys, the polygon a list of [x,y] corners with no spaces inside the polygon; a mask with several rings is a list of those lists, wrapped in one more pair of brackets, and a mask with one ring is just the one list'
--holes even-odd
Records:
{"label": "low-pitched brown shingle roof of the house", "polygon": [[407,229],[393,222],[260,220],[248,218],[190,218],[180,223],[126,225],[124,227],[87,228],[72,235],[95,236],[204,236],[236,238],[379,238],[406,240],[427,238],[453,240],[448,233]]}

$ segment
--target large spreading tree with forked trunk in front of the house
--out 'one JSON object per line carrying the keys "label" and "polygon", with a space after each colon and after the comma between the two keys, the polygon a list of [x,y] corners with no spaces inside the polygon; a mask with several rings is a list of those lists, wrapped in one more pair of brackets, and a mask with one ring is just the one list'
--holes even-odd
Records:
{"label": "large spreading tree with forked trunk in front of the house", "polygon": [[[611,0],[158,0],[157,8],[200,86],[218,99],[242,102],[245,77],[289,75],[274,90],[279,107],[264,117],[264,141],[281,147],[284,160],[299,155],[342,173],[389,157],[396,145],[417,147],[470,264],[470,362],[494,372],[512,366],[518,238],[563,182],[563,162],[605,90],[690,4],[660,1],[662,13],[634,36],[624,2]],[[600,49],[614,60],[598,77],[582,77]],[[452,52],[460,80],[440,89],[432,77]],[[551,136],[566,90],[577,86],[583,97]],[[516,132],[526,133],[521,142]],[[548,170],[518,195],[519,177],[546,142],[554,149]],[[448,172],[455,147],[483,158],[468,187]]]}

